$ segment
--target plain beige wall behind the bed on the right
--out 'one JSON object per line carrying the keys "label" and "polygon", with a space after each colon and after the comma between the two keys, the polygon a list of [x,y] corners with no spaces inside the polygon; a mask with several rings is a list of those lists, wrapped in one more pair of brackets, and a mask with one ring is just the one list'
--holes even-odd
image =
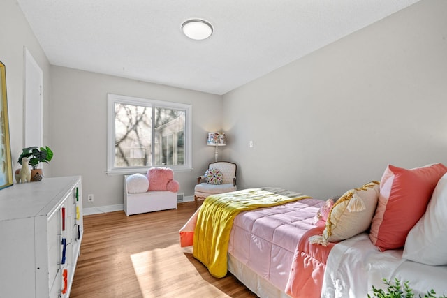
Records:
{"label": "plain beige wall behind the bed on the right", "polygon": [[388,163],[447,164],[446,15],[421,1],[225,94],[238,186],[325,199]]}

